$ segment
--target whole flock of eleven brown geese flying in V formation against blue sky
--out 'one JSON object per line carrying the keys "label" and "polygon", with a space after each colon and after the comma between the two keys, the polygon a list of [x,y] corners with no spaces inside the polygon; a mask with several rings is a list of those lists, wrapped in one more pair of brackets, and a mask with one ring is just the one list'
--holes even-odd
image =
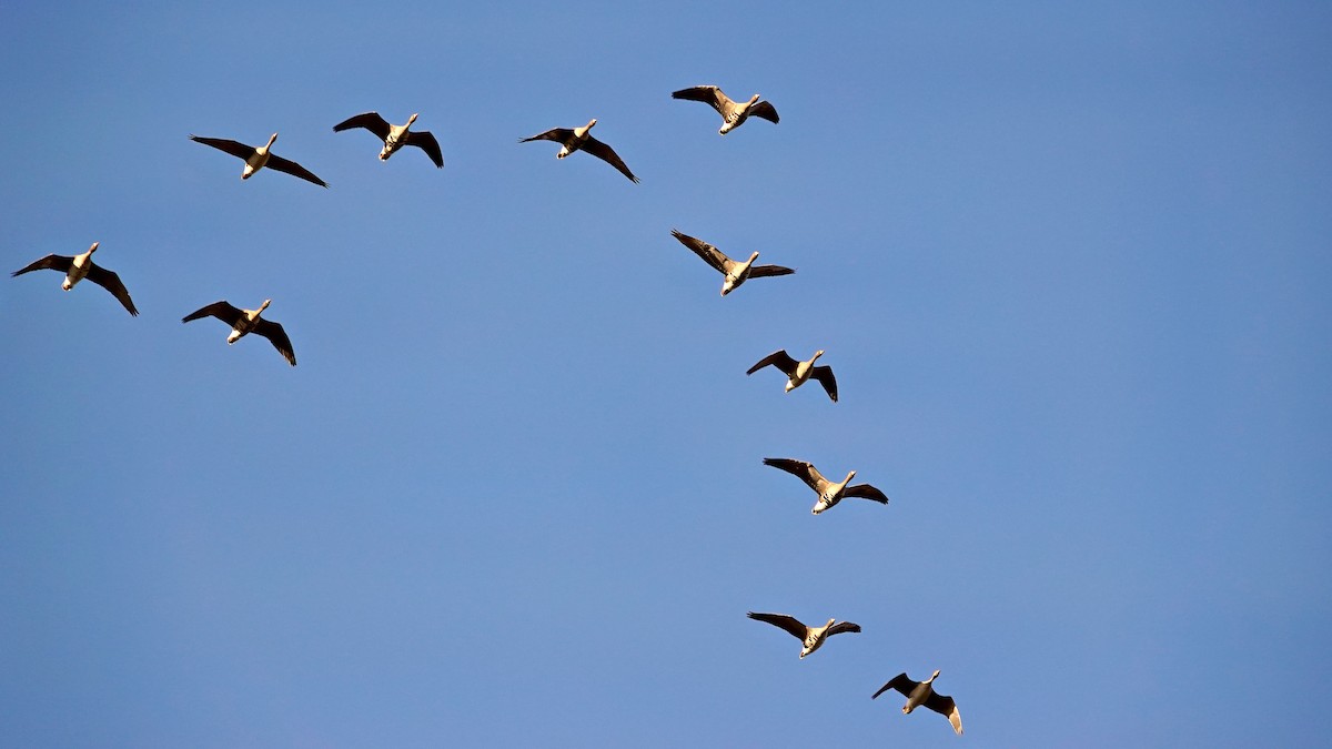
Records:
{"label": "whole flock of eleven brown geese flying in V formation against blue sky", "polygon": [[[747,101],[734,101],[715,85],[698,85],[677,91],[671,93],[671,96],[681,100],[702,101],[717,109],[717,112],[722,116],[722,128],[718,132],[723,136],[745,124],[750,116],[759,117],[770,123],[779,121],[777,109],[773,104],[761,100],[757,93]],[[412,145],[424,151],[436,167],[442,168],[444,155],[440,151],[440,143],[436,140],[434,135],[429,132],[412,131],[412,124],[416,123],[416,120],[417,115],[412,115],[408,117],[406,124],[390,125],[388,120],[381,117],[377,112],[365,112],[362,115],[348,117],[337,125],[333,125],[333,131],[344,132],[362,128],[374,133],[374,136],[384,143],[384,148],[380,151],[380,160],[386,161],[402,147]],[[534,140],[555,141],[561,145],[559,152],[555,153],[557,159],[565,159],[574,152],[583,151],[597,159],[601,159],[602,161],[606,161],[619,173],[637,183],[638,177],[634,176],[619,155],[617,155],[611,147],[591,136],[591,128],[595,124],[597,120],[593,119],[589,120],[586,125],[578,128],[551,128],[543,133],[521,139],[519,143],[529,143]],[[245,145],[234,140],[216,137],[200,137],[194,135],[190,135],[189,137],[196,143],[209,145],[241,159],[245,163],[245,167],[241,171],[242,180],[250,179],[260,169],[269,168],[300,177],[324,188],[328,187],[328,183],[317,177],[305,167],[297,164],[296,161],[282,159],[272,152],[273,144],[277,141],[277,133],[269,136],[268,143],[261,147]],[[679,240],[681,244],[698,255],[705,263],[722,273],[725,277],[722,281],[722,296],[734,292],[749,279],[787,276],[795,272],[783,265],[755,265],[754,261],[758,259],[758,252],[750,253],[747,260],[737,261],[727,257],[722,251],[703,240],[691,237],[675,229],[671,229],[671,235]],[[139,309],[135,307],[135,303],[129,296],[129,291],[125,288],[125,284],[121,283],[120,276],[93,263],[92,256],[97,252],[97,248],[99,243],[95,241],[87,252],[72,257],[48,255],[19,271],[15,271],[12,276],[21,276],[32,271],[43,269],[60,271],[65,275],[65,280],[61,284],[64,291],[71,291],[75,285],[87,279],[111,292],[111,295],[115,296],[131,315],[137,316]],[[269,343],[273,344],[273,348],[276,348],[288,361],[288,364],[296,367],[296,352],[292,348],[292,340],[288,337],[286,331],[278,323],[261,317],[270,303],[272,300],[265,299],[264,303],[258,305],[258,309],[241,309],[225,300],[214,301],[190,312],[181,319],[181,323],[189,323],[202,317],[216,317],[230,327],[230,333],[226,336],[228,344],[234,344],[244,336],[256,333],[268,339]],[[809,360],[802,361],[791,357],[786,351],[777,351],[758,360],[754,367],[750,367],[746,374],[754,374],[766,367],[774,367],[787,378],[786,392],[791,392],[810,380],[818,380],[829,398],[836,402],[836,378],[832,376],[832,368],[815,364],[821,356],[823,356],[822,349],[814,352],[814,356]],[[846,497],[871,500],[883,505],[888,504],[888,497],[878,488],[870,484],[851,484],[851,478],[855,477],[855,470],[848,470],[846,478],[842,481],[830,481],[819,473],[813,464],[802,460],[765,457],[763,465],[785,470],[805,481],[805,484],[813,489],[815,494],[818,494],[818,500],[811,509],[814,514],[831,509]],[[810,626],[789,614],[749,612],[747,616],[749,618],[771,624],[773,626],[778,626],[793,634],[802,644],[801,658],[805,658],[818,650],[823,646],[825,641],[834,634],[860,632],[860,625],[848,621],[836,621],[835,618],[827,620],[827,624],[822,626]],[[930,710],[947,717],[948,722],[952,724],[952,729],[958,734],[962,734],[962,717],[958,713],[958,706],[952,697],[939,694],[934,690],[934,680],[938,678],[938,676],[939,672],[935,670],[930,678],[924,681],[914,681],[907,677],[906,673],[900,673],[880,686],[878,692],[871,696],[871,698],[878,698],[884,692],[895,689],[907,698],[906,705],[902,708],[903,713],[908,714],[919,706],[928,708]]]}

